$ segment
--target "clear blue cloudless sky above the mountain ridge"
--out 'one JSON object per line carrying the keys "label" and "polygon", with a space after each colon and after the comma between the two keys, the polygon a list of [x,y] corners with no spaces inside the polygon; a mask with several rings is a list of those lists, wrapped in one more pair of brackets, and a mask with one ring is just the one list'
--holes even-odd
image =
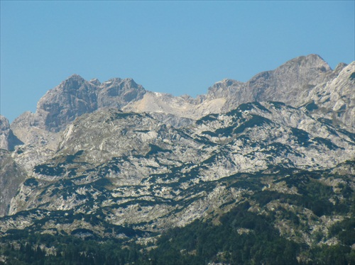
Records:
{"label": "clear blue cloudless sky above the mountain ridge", "polygon": [[316,53],[354,61],[354,1],[3,1],[1,115],[12,121],[72,74],[207,93],[224,78]]}

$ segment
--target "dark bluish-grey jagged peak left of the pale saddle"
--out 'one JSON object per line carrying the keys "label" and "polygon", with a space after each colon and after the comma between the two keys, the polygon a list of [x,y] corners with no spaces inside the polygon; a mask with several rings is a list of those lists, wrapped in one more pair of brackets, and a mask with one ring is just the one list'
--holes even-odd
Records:
{"label": "dark bluish-grey jagged peak left of the pale saddle", "polygon": [[35,113],[23,113],[11,126],[34,126],[57,133],[84,113],[98,108],[122,108],[144,93],[133,79],[111,79],[101,84],[97,79],[86,81],[73,74],[40,98]]}

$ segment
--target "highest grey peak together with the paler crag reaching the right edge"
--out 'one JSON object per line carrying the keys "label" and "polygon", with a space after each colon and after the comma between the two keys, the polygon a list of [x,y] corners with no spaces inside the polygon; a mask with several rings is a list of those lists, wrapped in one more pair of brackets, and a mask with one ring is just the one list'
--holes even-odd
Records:
{"label": "highest grey peak together with the paler crag reaching the right edge", "polygon": [[222,112],[253,101],[280,101],[295,108],[312,108],[312,103],[317,102],[322,106],[315,112],[317,117],[332,117],[334,124],[340,122],[354,132],[354,65],[339,64],[332,71],[318,55],[297,57],[273,71],[256,74],[246,83],[229,79],[217,82],[206,98],[226,98]]}

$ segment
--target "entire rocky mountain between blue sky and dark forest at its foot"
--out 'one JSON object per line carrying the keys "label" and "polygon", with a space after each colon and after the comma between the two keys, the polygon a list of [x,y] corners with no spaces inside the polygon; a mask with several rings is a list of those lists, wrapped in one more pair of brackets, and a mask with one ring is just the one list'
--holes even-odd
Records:
{"label": "entire rocky mountain between blue sky and dark forest at its foot", "polygon": [[[343,246],[355,262],[342,234],[355,235],[354,82],[355,62],[333,70],[319,55],[218,81],[196,98],[74,74],[35,113],[11,125],[1,116],[0,237],[133,239],[159,251],[165,232],[197,222],[251,237],[258,228],[242,222],[245,212],[299,244],[294,261]],[[200,253],[185,250],[180,259]],[[234,263],[233,251],[214,252],[203,262]]]}

